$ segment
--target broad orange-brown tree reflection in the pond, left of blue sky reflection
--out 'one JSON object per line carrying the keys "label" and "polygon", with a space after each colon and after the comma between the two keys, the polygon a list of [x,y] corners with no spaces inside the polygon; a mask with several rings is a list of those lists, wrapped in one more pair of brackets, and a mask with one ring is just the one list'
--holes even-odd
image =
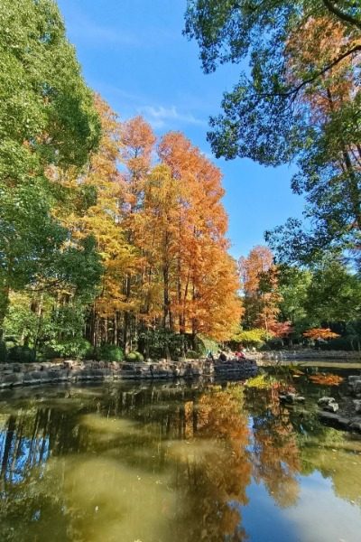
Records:
{"label": "broad orange-brown tree reflection in the pond, left of blue sky reflection", "polygon": [[251,481],[252,465],[247,452],[243,387],[208,388],[197,402],[185,406],[186,435],[213,445],[202,461],[190,462],[186,456],[178,465],[177,486],[188,503],[181,523],[192,526],[184,539],[244,540],[236,505],[247,502],[245,489]]}

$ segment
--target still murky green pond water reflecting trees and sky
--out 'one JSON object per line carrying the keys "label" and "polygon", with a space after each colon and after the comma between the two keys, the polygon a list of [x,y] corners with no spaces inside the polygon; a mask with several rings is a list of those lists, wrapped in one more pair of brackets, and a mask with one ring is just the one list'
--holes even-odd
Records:
{"label": "still murky green pond water reflecting trees and sky", "polygon": [[0,540],[360,542],[360,436],[317,417],[345,388],[293,385],[2,392]]}

